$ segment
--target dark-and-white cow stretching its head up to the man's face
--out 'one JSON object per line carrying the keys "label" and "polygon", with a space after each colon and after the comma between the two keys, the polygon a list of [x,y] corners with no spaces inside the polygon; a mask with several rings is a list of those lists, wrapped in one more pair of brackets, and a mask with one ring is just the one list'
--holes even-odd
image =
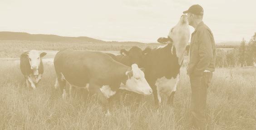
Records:
{"label": "dark-and-white cow stretching its head up to the man's face", "polygon": [[158,42],[166,45],[144,50],[147,53],[143,58],[145,78],[153,89],[157,106],[162,101],[160,93],[166,94],[167,103],[172,105],[189,38],[187,15],[182,15],[177,25],[170,30],[168,37],[158,39]]}

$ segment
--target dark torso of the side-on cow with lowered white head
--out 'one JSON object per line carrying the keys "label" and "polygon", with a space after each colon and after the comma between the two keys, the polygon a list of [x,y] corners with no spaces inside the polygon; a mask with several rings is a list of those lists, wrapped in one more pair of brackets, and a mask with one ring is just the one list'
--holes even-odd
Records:
{"label": "dark torso of the side-on cow with lowered white head", "polygon": [[69,83],[84,87],[89,81],[109,77],[114,68],[122,66],[110,56],[95,51],[59,51],[54,58],[57,73],[62,73]]}

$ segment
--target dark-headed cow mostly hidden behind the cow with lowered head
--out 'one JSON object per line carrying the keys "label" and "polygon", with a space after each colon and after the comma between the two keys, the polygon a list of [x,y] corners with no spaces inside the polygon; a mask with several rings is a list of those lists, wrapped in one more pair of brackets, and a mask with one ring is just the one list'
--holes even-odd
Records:
{"label": "dark-headed cow mostly hidden behind the cow with lowered head", "polygon": [[138,46],[133,46],[129,51],[122,49],[120,50],[120,55],[117,56],[111,53],[107,54],[124,65],[131,66],[132,64],[137,64],[138,67],[141,67],[141,61],[144,57],[144,52]]}

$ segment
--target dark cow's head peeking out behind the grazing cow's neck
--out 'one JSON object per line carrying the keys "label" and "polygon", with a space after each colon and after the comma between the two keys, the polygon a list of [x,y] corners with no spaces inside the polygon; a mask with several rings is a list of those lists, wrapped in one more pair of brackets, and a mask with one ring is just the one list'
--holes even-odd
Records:
{"label": "dark cow's head peeking out behind the grazing cow's neck", "polygon": [[129,62],[128,66],[132,64],[137,64],[138,66],[141,66],[143,51],[138,46],[133,46],[129,51],[122,49],[120,51],[120,54],[123,56],[127,56],[127,60]]}

